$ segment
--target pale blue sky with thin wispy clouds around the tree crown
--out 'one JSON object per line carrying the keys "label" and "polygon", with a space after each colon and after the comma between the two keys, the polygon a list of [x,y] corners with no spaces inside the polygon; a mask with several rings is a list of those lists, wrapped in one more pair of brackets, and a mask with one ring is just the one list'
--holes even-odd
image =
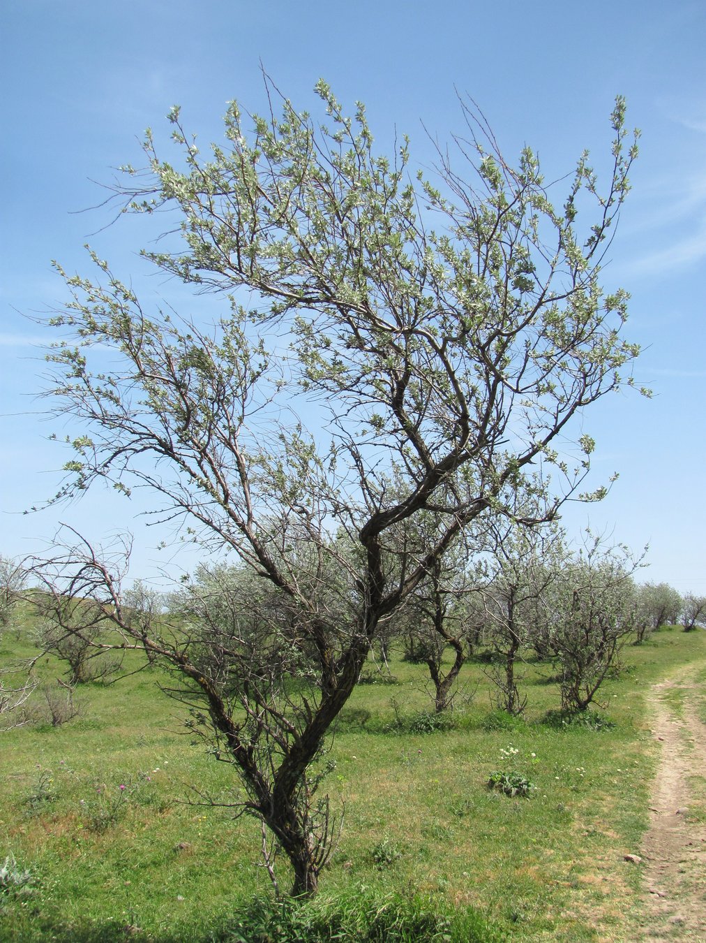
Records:
{"label": "pale blue sky with thin wispy clouds around the tree crown", "polygon": [[0,43],[0,554],[35,552],[68,521],[92,539],[129,527],[136,576],[172,557],[193,565],[178,550],[154,550],[163,535],[111,492],[22,514],[56,491],[68,456],[47,439],[70,431],[41,417],[47,335],[23,315],[60,305],[50,260],[87,272],[87,240],[121,276],[144,273],[139,221],[99,231],[108,211],[80,211],[103,200],[98,183],[112,167],[139,162],[147,125],[166,134],[171,105],[201,142],[219,138],[229,100],[264,108],[262,62],[297,108],[314,108],[320,76],[346,105],[361,99],[380,146],[395,129],[407,133],[426,165],[427,132],[444,141],[461,130],[456,90],[468,92],[505,156],[526,142],[550,177],[569,172],[585,147],[605,153],[613,101],[627,97],[641,156],[603,281],[632,293],[626,336],[644,348],[635,375],[655,395],[620,393],[586,414],[582,431],[597,440],[591,484],[620,477],[601,505],[572,506],[565,521],[574,534],[590,521],[635,551],[650,543],[643,579],[706,593],[701,0],[9,0]]}

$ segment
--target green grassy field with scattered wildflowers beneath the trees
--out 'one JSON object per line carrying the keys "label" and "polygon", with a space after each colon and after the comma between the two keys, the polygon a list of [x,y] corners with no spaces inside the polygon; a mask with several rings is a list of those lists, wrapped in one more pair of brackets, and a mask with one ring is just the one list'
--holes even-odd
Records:
{"label": "green grassy field with scattered wildflowers beneath the trees", "polygon": [[[18,651],[4,645],[2,658]],[[703,632],[627,646],[600,692],[613,724],[602,729],[541,722],[558,692],[534,664],[527,722],[508,723],[476,660],[453,727],[425,733],[409,732],[433,725],[425,668],[393,662],[397,684],[360,686],[335,736],[326,783],[345,828],[322,902],[418,894],[430,908],[477,909],[493,938],[630,939],[640,868],[624,855],[639,850],[655,759],[644,695],[705,657]],[[47,678],[61,670],[41,665]],[[190,743],[158,680],[148,670],[83,686],[78,718],[2,735],[0,865],[10,856],[29,878],[0,884],[0,939],[236,939],[233,908],[271,894],[257,823],[194,804],[193,786],[223,802],[240,793],[233,770]],[[493,771],[536,788],[490,791]]]}

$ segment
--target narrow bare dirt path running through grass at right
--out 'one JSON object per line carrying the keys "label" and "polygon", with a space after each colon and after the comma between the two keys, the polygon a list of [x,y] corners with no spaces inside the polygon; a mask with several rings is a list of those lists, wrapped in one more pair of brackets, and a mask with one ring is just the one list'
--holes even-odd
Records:
{"label": "narrow bare dirt path running through grass at right", "polygon": [[706,775],[706,726],[697,716],[697,690],[692,667],[650,691],[652,733],[662,749],[642,851],[643,929],[638,939],[643,943],[706,943],[706,825],[689,815],[694,802],[689,777]]}

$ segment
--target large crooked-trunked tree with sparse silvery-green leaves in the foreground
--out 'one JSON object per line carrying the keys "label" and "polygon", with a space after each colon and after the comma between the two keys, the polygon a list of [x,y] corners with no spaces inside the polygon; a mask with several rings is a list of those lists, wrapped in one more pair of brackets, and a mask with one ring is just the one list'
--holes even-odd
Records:
{"label": "large crooked-trunked tree with sparse silvery-green leaves in the foreground", "polygon": [[[53,323],[69,337],[49,355],[57,408],[77,423],[56,500],[97,482],[150,488],[164,518],[276,588],[290,637],[313,655],[315,685],[294,717],[274,688],[226,697],[190,645],[133,625],[90,548],[57,561],[55,575],[78,566],[84,598],[104,601],[123,644],[168,662],[201,700],[295,894],[315,890],[328,853],[328,799],[320,828],[310,814],[312,764],[378,627],[479,514],[504,513],[531,464],[558,474],[554,516],[593,448],[582,436],[570,461],[557,442],[630,382],[637,354],[620,336],[627,295],[600,287],[636,153],[622,99],[605,189],[584,155],[554,206],[538,157],[525,148],[513,169],[470,103],[457,157],[440,151],[436,177],[415,183],[407,140],[378,155],[364,108],[349,118],[324,82],[316,91],[321,124],[286,100],[281,117],[273,104],[246,119],[233,103],[208,158],[174,108],[181,164],[148,132],[147,167],[125,167],[116,185],[126,212],[171,214],[172,234],[144,256],[215,293],[217,324],[148,309],[91,253],[95,278],[66,274],[72,300]],[[423,513],[437,536],[400,561],[396,531]]]}

